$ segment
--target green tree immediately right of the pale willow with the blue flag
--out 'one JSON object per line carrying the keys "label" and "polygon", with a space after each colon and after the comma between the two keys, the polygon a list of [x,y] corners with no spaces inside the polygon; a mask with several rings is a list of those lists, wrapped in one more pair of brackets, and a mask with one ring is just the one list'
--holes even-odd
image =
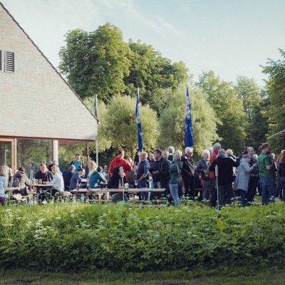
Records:
{"label": "green tree immediately right of the pale willow with the blue flag", "polygon": [[207,93],[207,101],[216,113],[219,122],[217,134],[222,140],[222,147],[232,148],[235,152],[243,150],[246,120],[242,100],[237,97],[232,83],[221,81],[213,71],[203,71],[198,86]]}

